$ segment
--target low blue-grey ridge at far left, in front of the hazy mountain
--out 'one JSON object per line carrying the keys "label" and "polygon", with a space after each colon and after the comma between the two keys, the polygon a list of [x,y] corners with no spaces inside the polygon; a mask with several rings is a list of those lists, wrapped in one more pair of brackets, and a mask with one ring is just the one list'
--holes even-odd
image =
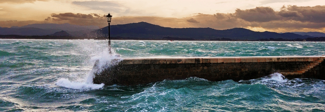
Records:
{"label": "low blue-grey ridge at far left, in front of the hazy mountain", "polygon": [[43,36],[43,35],[51,35],[58,31],[61,31],[61,29],[0,28],[0,35]]}

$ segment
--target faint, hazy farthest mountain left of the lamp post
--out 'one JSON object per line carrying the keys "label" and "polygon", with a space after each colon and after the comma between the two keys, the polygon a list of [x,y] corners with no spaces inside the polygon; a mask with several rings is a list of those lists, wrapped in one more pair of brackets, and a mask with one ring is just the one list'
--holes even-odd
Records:
{"label": "faint, hazy farthest mountain left of the lamp post", "polygon": [[22,27],[10,27],[10,28],[41,28],[41,29],[61,29],[64,31],[80,31],[87,29],[99,29],[98,26],[81,26],[81,25],[71,25],[69,23],[64,24],[54,24],[54,23],[44,23],[44,24],[30,24]]}

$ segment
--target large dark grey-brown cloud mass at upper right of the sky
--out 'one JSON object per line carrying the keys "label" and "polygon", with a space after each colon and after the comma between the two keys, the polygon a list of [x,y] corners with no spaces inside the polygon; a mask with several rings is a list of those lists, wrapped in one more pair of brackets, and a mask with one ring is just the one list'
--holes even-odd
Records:
{"label": "large dark grey-brown cloud mass at upper right of the sky", "polygon": [[269,22],[295,20],[301,22],[325,22],[325,6],[282,6],[280,11],[271,7],[236,9],[234,15],[249,22]]}

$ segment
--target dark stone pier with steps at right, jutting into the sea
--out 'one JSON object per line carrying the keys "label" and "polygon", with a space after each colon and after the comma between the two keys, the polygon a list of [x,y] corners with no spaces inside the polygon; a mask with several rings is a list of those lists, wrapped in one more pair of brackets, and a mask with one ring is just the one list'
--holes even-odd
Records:
{"label": "dark stone pier with steps at right, jutting into the sea", "polygon": [[[198,77],[210,81],[250,80],[272,73],[288,79],[325,79],[325,56],[123,58],[96,73],[94,84],[138,85]],[[95,65],[96,66],[96,65]]]}

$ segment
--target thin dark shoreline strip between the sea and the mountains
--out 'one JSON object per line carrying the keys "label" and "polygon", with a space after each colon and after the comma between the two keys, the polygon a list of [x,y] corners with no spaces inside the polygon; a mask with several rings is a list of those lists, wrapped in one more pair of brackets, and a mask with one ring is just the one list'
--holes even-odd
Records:
{"label": "thin dark shoreline strip between the sea and the mountains", "polygon": [[[87,37],[71,37],[71,36],[20,36],[20,35],[0,35],[0,39],[97,39],[105,40],[107,37],[98,38],[87,38]],[[179,40],[179,41],[316,41],[324,42],[325,37],[314,37],[306,39],[258,39],[258,40],[247,40],[247,39],[229,39],[229,38],[216,38],[216,39],[191,39],[191,38],[175,38],[175,37],[164,37],[162,39],[148,39],[148,38],[132,38],[132,37],[111,37],[111,40]]]}

